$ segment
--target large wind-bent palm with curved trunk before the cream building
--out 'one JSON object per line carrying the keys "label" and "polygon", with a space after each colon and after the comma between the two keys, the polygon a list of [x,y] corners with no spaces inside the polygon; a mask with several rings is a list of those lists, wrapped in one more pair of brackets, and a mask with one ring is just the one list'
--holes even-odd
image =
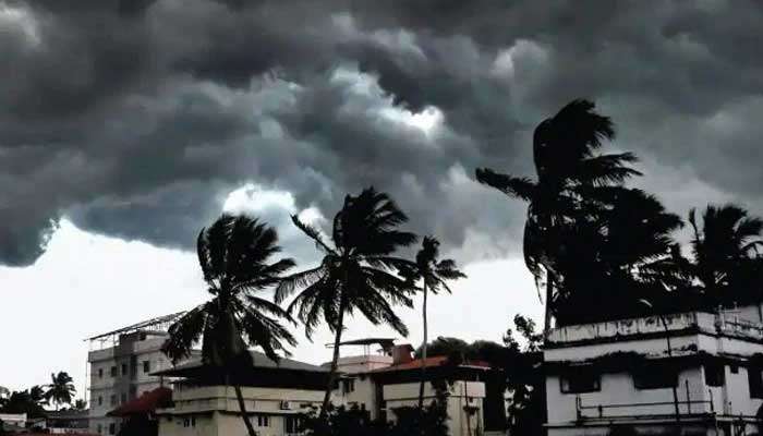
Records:
{"label": "large wind-bent palm with curved trunk before the cream building", "polygon": [[262,347],[275,361],[283,342],[296,342],[280,320],[291,319],[277,304],[256,296],[257,291],[279,282],[294,266],[290,258],[270,262],[280,252],[276,231],[246,216],[222,215],[202,229],[196,244],[198,263],[211,300],[185,313],[169,328],[164,352],[173,363],[190,356],[202,339],[202,361],[218,367],[226,384],[233,383],[241,417],[250,436],[250,423],[240,374],[252,367],[249,347]]}

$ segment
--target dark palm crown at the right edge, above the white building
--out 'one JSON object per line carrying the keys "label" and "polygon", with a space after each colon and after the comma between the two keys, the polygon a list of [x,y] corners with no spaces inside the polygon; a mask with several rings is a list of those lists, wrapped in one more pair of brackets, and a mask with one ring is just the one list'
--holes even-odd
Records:
{"label": "dark palm crown at the right edge, above the white building", "polygon": [[692,271],[707,296],[707,304],[758,299],[756,280],[761,274],[763,219],[752,217],[737,205],[708,205],[702,214],[702,226],[697,209],[689,211],[693,235]]}

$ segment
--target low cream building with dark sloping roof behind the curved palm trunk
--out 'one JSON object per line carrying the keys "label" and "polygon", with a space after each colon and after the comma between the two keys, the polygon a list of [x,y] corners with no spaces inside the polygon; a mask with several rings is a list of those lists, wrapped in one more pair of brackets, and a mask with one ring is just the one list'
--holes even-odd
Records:
{"label": "low cream building with dark sloping roof behind the curved palm trunk", "polygon": [[328,371],[320,366],[281,359],[276,363],[265,354],[252,352],[254,366],[226,377],[199,360],[159,372],[177,377],[173,405],[156,411],[159,435],[244,435],[235,391],[242,397],[250,422],[261,436],[299,434],[299,415],[320,405],[328,383]]}

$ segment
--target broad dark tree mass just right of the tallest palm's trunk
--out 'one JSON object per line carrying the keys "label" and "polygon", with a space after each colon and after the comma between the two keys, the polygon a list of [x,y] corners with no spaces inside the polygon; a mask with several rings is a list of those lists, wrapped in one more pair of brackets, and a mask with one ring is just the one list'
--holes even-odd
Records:
{"label": "broad dark tree mass just right of the tallest palm's trunk", "polygon": [[[598,187],[590,214],[559,227],[566,232],[556,254],[559,325],[639,315],[634,302],[667,302],[668,284],[682,287],[680,269],[668,262],[682,227],[653,195],[623,186]],[[598,310],[607,307],[606,313]]]}

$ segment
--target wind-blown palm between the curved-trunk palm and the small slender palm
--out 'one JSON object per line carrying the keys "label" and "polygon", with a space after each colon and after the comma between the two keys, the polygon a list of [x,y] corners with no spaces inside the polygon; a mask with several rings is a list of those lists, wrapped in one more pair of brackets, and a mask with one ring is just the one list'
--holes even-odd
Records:
{"label": "wind-blown palm between the curved-trunk palm and the small slender palm", "polygon": [[395,252],[415,242],[413,233],[398,230],[408,220],[395,202],[373,187],[358,196],[347,195],[343,207],[334,218],[331,242],[310,225],[292,216],[294,225],[312,239],[324,258],[319,266],[286,277],[276,289],[276,302],[293,292],[300,293],[289,304],[296,311],[310,338],[315,327],[325,322],[335,334],[334,358],[320,417],[325,419],[331,390],[337,379],[337,361],[344,328],[344,315],[359,311],[372,324],[387,324],[400,335],[408,328],[392,310],[395,304],[412,306],[410,283],[392,274],[410,268],[410,261]]}

